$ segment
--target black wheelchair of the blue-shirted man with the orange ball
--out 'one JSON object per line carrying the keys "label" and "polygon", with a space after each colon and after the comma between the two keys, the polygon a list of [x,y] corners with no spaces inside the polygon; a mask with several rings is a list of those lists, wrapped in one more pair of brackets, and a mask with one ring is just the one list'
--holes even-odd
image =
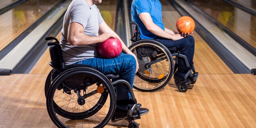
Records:
{"label": "black wheelchair of the blue-shirted man with the orange ball", "polygon": [[[180,54],[176,47],[168,49],[153,39],[140,39],[139,25],[135,22],[130,24],[134,26],[134,30],[133,37],[130,39],[133,43],[129,49],[137,56],[139,63],[139,71],[136,73],[133,86],[135,89],[153,92],[165,87],[177,70],[178,58],[184,59],[186,67],[190,66],[186,56]],[[192,71],[195,73],[193,65]],[[191,79],[191,84],[196,82],[193,80],[192,71],[188,71],[184,81],[178,83],[179,91],[188,90],[186,78]]]}

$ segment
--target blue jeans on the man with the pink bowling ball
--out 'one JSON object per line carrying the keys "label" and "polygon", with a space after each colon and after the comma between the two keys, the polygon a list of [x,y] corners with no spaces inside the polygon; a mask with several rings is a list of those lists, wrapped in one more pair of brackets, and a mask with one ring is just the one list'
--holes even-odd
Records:
{"label": "blue jeans on the man with the pink bowling ball", "polygon": [[[130,54],[125,54],[124,52],[121,52],[118,57],[113,59],[103,59],[101,57],[92,58],[79,61],[74,65],[90,65],[97,68],[99,72],[103,74],[118,74],[118,79],[128,81],[130,83],[130,86],[133,87],[133,81],[136,72],[136,60]],[[128,87],[125,84],[117,85],[116,93],[117,100],[131,99]]]}

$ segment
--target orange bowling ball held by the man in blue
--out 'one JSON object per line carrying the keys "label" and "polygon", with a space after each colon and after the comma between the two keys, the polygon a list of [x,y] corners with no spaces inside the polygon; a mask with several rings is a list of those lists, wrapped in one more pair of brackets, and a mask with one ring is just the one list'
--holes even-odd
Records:
{"label": "orange bowling ball held by the man in blue", "polygon": [[180,33],[192,33],[195,29],[195,22],[191,17],[183,16],[177,20],[176,27]]}

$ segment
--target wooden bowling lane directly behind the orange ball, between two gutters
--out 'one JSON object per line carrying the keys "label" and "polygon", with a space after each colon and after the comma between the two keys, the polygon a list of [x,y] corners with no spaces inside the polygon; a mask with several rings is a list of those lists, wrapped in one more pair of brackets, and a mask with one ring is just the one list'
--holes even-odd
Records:
{"label": "wooden bowling lane directly behind the orange ball, between two gutters", "polygon": [[[162,2],[162,20],[164,26],[177,31],[176,22],[181,17],[166,0]],[[233,74],[227,65],[218,55],[207,45],[196,31],[192,36],[195,39],[194,66],[196,72],[200,74]]]}

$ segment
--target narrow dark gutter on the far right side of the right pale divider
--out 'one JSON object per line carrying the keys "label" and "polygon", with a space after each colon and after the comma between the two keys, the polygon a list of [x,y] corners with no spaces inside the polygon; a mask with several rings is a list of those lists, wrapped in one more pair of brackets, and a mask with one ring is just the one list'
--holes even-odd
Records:
{"label": "narrow dark gutter on the far right side of the right pale divider", "polygon": [[193,9],[195,9],[198,12],[200,12],[202,15],[204,15],[204,17],[207,17],[211,22],[216,24],[220,29],[224,30],[230,37],[232,37],[241,46],[243,46],[245,49],[247,49],[249,52],[251,52],[254,56],[256,56],[256,49],[253,46],[251,46],[244,39],[242,39],[241,37],[236,35],[236,33],[234,33],[231,30],[229,30],[229,28],[227,28],[226,26],[224,26],[223,24],[221,24],[220,22],[215,20],[213,17],[211,17],[211,15],[205,13],[201,8],[197,7],[190,0],[187,0],[187,2],[191,5],[191,7],[193,7]]}

